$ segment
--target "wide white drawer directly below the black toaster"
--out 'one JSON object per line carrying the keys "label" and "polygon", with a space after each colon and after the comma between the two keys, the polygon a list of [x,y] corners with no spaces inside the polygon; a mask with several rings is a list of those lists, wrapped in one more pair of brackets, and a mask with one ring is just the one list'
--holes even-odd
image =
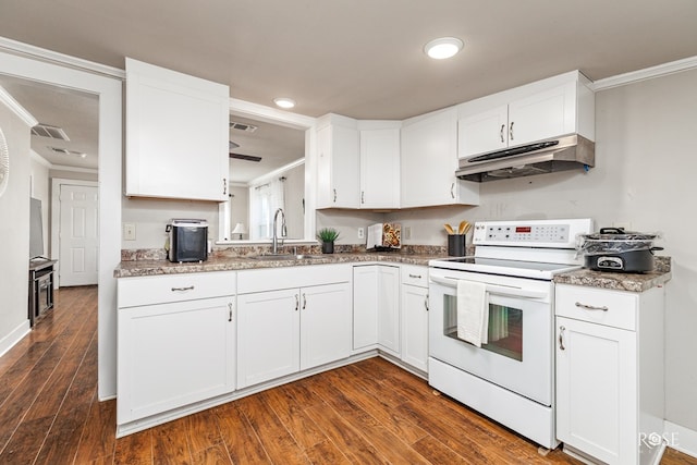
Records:
{"label": "wide white drawer directly below the black toaster", "polygon": [[234,295],[235,290],[234,271],[216,271],[121,278],[117,296],[119,308],[125,308]]}

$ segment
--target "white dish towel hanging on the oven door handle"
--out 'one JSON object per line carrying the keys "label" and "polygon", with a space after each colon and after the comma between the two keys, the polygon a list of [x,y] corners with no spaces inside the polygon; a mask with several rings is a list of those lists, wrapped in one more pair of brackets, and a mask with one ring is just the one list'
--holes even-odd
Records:
{"label": "white dish towel hanging on the oven door handle", "polygon": [[489,296],[480,282],[457,281],[457,339],[481,347],[489,331]]}

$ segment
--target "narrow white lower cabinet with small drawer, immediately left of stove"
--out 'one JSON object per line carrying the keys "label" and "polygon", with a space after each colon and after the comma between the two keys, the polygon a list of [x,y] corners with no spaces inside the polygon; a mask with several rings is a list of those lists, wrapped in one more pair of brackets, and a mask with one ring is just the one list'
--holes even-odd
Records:
{"label": "narrow white lower cabinet with small drawer, immediately left of stove", "polygon": [[428,371],[428,268],[402,266],[402,362]]}

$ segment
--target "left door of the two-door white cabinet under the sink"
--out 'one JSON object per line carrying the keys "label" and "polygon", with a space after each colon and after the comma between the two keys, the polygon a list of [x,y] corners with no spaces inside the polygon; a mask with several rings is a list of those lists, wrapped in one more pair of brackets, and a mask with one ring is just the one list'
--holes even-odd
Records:
{"label": "left door of the two-door white cabinet under the sink", "polygon": [[237,388],[299,370],[299,291],[237,296]]}

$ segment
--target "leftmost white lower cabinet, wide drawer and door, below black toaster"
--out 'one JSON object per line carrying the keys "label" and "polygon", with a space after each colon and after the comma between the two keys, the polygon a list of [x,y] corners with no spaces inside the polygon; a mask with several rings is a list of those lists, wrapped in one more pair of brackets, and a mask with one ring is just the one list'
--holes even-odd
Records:
{"label": "leftmost white lower cabinet, wide drawer and door, below black toaster", "polygon": [[234,272],[119,280],[119,425],[234,391]]}

